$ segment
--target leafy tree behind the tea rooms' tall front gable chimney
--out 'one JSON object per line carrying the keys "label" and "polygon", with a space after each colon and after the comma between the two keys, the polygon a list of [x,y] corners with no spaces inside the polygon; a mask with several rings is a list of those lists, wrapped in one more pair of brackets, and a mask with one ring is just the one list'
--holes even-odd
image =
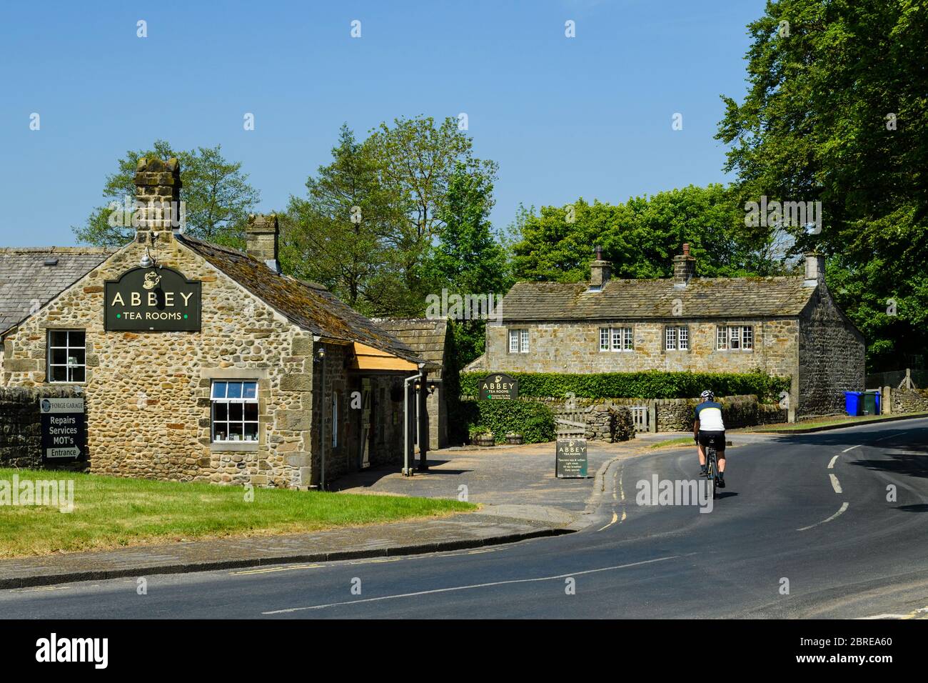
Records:
{"label": "leafy tree behind the tea rooms' tall front gable chimney", "polygon": [[175,151],[165,140],[155,140],[150,150],[127,151],[118,161],[117,172],[107,177],[103,187],[107,204],[95,208],[83,226],[71,228],[79,242],[122,246],[132,241],[135,229],[131,223],[110,217],[114,211],[122,212],[126,197],[129,206],[134,206],[135,164],[146,156],[164,161],[176,157],[180,162],[180,196],[186,207],[187,234],[213,243],[244,246],[245,222],[260,193],[249,185],[241,164],[226,161],[219,145]]}

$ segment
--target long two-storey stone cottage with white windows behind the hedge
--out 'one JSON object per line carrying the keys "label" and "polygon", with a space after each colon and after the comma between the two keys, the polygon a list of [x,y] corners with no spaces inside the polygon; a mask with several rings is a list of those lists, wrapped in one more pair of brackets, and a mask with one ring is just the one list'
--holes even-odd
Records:
{"label": "long two-storey stone cottage with white windows behind the hedge", "polygon": [[618,280],[599,250],[590,282],[518,282],[486,328],[487,372],[642,370],[792,378],[790,419],[835,414],[864,385],[864,338],[825,284],[824,257],[805,277],[701,278],[689,244],[674,276]]}

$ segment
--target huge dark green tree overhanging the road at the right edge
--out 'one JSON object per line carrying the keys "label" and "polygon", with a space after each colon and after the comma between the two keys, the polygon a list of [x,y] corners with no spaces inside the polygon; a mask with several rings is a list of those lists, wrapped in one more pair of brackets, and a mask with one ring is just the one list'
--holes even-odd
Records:
{"label": "huge dark green tree overhanging the road at the right edge", "polygon": [[734,192],[821,202],[820,232],[794,229],[794,251],[831,256],[830,288],[871,368],[892,368],[928,345],[924,4],[771,0],[749,30],[748,91],[723,98],[716,136]]}

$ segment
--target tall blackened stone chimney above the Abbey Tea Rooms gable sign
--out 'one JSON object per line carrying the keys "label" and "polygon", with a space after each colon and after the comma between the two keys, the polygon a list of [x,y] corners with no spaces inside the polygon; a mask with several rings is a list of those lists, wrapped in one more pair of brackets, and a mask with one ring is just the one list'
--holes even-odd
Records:
{"label": "tall blackened stone chimney above the Abbey Tea Rooms gable sign", "polygon": [[[159,240],[171,241],[183,220],[180,206],[180,163],[156,157],[142,157],[135,164],[135,240],[148,243],[158,233]],[[137,221],[135,218],[137,217]]]}

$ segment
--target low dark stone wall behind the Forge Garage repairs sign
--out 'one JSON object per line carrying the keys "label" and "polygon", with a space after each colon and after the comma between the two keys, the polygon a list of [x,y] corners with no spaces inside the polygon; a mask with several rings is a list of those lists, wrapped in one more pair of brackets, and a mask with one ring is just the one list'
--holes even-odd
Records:
{"label": "low dark stone wall behind the Forge Garage repairs sign", "polygon": [[[0,467],[42,467],[40,398],[71,399],[78,387],[0,387]],[[84,469],[84,462],[61,463],[52,468]]]}

